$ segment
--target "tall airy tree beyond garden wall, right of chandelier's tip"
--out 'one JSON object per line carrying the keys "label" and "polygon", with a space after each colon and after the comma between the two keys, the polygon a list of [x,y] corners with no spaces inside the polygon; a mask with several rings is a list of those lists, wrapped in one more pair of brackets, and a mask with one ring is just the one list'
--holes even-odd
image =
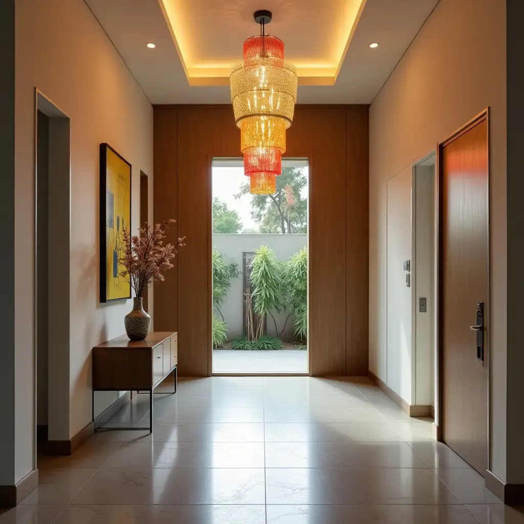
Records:
{"label": "tall airy tree beyond garden wall, right of chandelier's tip", "polygon": [[[284,167],[277,177],[275,194],[252,195],[251,216],[260,233],[307,233],[308,199],[301,195],[307,184],[307,175],[301,168]],[[242,184],[235,198],[245,194],[249,194],[249,182]]]}

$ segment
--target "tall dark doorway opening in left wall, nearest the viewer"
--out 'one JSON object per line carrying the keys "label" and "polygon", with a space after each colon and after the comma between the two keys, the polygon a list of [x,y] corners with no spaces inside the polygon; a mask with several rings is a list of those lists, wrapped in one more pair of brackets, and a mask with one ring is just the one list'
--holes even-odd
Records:
{"label": "tall dark doorway opening in left wall, nearest the viewer", "polygon": [[70,119],[38,91],[36,110],[35,440],[45,443],[70,438]]}

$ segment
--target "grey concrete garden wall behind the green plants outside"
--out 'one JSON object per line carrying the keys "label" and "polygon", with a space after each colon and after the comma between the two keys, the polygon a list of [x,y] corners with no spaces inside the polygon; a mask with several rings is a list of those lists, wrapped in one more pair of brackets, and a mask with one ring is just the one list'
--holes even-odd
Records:
{"label": "grey concrete garden wall behind the green plants outside", "polygon": [[[213,235],[213,247],[222,255],[231,258],[238,264],[238,269],[242,271],[243,253],[253,252],[260,246],[270,247],[275,252],[279,260],[287,260],[294,253],[297,253],[308,244],[308,235]],[[220,308],[224,315],[224,320],[229,326],[227,340],[232,340],[242,334],[243,316],[243,276],[235,278],[231,282],[231,290],[228,294],[226,303]],[[286,321],[287,313],[275,314],[278,329],[281,330]],[[268,332],[275,335],[273,320],[268,319]],[[293,338],[293,323],[290,317],[282,339]]]}

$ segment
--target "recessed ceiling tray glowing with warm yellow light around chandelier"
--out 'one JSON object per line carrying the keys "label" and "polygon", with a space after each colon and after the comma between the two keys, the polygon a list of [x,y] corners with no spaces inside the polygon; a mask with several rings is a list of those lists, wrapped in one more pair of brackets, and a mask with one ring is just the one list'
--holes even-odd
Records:
{"label": "recessed ceiling tray glowing with warm yellow light around chandelier", "polygon": [[[242,42],[258,34],[260,0],[159,0],[190,85],[227,85]],[[299,84],[333,85],[366,0],[264,0],[267,34],[286,39]]]}

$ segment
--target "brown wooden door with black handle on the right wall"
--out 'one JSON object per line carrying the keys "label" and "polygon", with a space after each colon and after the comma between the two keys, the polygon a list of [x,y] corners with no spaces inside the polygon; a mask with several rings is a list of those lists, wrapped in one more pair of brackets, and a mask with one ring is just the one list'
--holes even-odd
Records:
{"label": "brown wooden door with black handle on the right wall", "polygon": [[[487,468],[488,127],[484,114],[440,148],[442,438]],[[484,308],[478,358],[477,303]]]}

